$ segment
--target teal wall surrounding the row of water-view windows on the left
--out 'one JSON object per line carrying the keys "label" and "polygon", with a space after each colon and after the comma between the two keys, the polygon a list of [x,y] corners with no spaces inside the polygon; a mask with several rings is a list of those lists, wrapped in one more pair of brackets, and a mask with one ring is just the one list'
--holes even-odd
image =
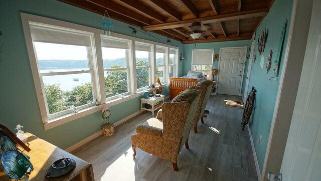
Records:
{"label": "teal wall surrounding the row of water-view windows on the left", "polygon": [[[61,126],[44,130],[20,12],[98,29],[102,16],[54,0],[0,1],[0,31],[3,33],[0,36],[0,46],[4,44],[3,52],[0,53],[0,123],[13,132],[15,132],[16,125],[21,124],[24,126],[24,131],[31,132],[65,149],[101,130],[103,124],[101,112],[97,111]],[[140,32],[133,35],[129,25],[115,20],[113,23],[115,33],[167,44],[168,38],[164,36],[148,32],[158,40]],[[183,44],[176,40],[171,41],[171,45],[179,47],[179,51],[183,52]],[[182,74],[182,65],[183,62],[180,62],[179,75]],[[167,88],[163,88],[163,93],[169,95]],[[110,121],[117,122],[138,111],[140,109],[139,98],[112,106]]]}

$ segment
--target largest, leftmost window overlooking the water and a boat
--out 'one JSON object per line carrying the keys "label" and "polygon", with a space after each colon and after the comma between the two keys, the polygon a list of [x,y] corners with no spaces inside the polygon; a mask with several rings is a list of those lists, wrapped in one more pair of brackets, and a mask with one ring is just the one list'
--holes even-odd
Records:
{"label": "largest, leftmost window overlooking the water and a boat", "polygon": [[94,105],[92,35],[30,23],[49,119]]}

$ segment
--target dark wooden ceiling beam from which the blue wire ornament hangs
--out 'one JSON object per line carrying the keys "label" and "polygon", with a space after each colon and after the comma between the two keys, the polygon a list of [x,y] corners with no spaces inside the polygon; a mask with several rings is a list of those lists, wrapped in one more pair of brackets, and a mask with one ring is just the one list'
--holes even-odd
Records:
{"label": "dark wooden ceiling beam from which the blue wire ornament hangs", "polygon": [[[131,18],[131,19],[134,19],[138,22],[141,22],[141,23],[144,23],[144,24],[147,24],[147,25],[151,25],[151,20],[144,17],[144,16],[141,16],[139,15],[138,13],[136,12],[133,12],[127,8],[124,8],[110,0],[87,0],[88,2],[91,2],[93,4],[96,4],[98,6],[101,6],[103,8],[106,8],[108,10],[108,13],[110,11],[113,11],[115,13],[119,13],[125,17],[128,17],[128,18]],[[107,16],[107,15],[106,15]]]}

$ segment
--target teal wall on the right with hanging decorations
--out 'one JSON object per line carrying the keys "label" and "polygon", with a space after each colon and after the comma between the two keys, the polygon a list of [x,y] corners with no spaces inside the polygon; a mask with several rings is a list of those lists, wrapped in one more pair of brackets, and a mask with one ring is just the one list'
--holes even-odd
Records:
{"label": "teal wall on the right with hanging decorations", "polygon": [[[278,51],[282,24],[284,20],[287,19],[288,22],[283,44],[283,51],[281,53],[280,70],[282,70],[283,67],[285,47],[289,32],[289,24],[292,11],[292,3],[292,0],[276,0],[273,6],[271,7],[269,14],[264,18],[264,20],[256,30],[256,42],[258,40],[258,37],[262,34],[262,30],[264,30],[265,28],[268,29],[268,36],[264,52],[261,56],[258,55],[257,43],[255,45],[254,55],[256,55],[256,61],[252,63],[249,90],[246,93],[246,95],[251,91],[252,86],[254,86],[257,90],[256,108],[252,113],[252,118],[250,120],[249,125],[251,128],[255,151],[261,171],[263,168],[266,146],[270,133],[272,116],[276,101],[276,95],[279,87],[279,80],[271,81],[269,79],[271,79],[271,77],[274,74],[274,60],[276,59],[276,54]],[[253,40],[254,36],[252,38],[252,41]],[[272,65],[269,73],[266,73],[265,67],[270,50],[272,50],[273,52]],[[258,144],[257,140],[259,139],[260,135],[262,135],[262,142],[261,144]]]}

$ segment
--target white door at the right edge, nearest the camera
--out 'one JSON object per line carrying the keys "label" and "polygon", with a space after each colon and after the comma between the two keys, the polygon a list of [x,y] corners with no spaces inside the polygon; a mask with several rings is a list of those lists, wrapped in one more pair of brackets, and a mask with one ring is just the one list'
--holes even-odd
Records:
{"label": "white door at the right edge, nearest the camera", "polygon": [[283,181],[321,180],[321,1],[311,24],[291,126],[283,156]]}

